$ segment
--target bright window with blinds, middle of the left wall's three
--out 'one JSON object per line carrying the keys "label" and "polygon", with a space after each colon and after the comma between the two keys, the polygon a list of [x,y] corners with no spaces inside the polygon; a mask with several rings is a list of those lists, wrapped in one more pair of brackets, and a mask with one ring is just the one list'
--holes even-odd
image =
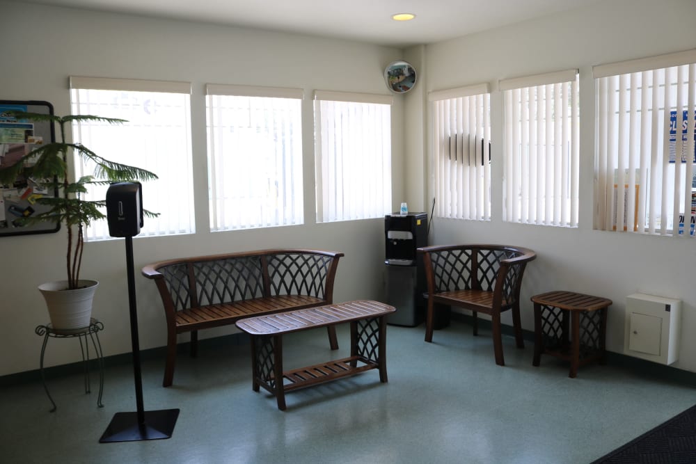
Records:
{"label": "bright window with blinds, middle of the left wall's three", "polygon": [[210,230],[303,223],[302,96],[207,86]]}

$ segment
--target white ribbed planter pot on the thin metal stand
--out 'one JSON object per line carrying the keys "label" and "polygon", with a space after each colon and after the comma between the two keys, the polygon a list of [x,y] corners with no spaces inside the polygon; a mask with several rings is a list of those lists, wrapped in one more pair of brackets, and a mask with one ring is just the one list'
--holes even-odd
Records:
{"label": "white ribbed planter pot on the thin metal stand", "polygon": [[99,282],[79,280],[78,284],[80,288],[74,290],[68,290],[67,280],[39,285],[53,328],[74,329],[89,326],[92,300]]}

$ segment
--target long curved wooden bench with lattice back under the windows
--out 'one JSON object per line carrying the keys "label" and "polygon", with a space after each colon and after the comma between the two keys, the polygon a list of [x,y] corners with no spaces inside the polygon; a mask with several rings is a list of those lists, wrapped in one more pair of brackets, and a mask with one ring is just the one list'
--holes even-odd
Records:
{"label": "long curved wooden bench with lattice back under the windows", "polygon": [[[318,250],[257,250],[184,257],[148,264],[167,323],[167,356],[162,385],[174,377],[177,335],[191,333],[191,356],[198,353],[198,330],[239,319],[333,303],[333,281],[343,253]],[[338,349],[328,326],[331,349]]]}

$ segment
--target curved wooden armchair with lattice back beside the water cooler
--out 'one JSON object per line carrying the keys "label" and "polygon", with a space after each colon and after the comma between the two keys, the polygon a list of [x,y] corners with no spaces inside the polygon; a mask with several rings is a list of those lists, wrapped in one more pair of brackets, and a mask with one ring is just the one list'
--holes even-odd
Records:
{"label": "curved wooden armchair with lattice back beside the water cooler", "polygon": [[447,245],[418,248],[423,255],[428,300],[425,341],[432,342],[436,303],[463,307],[473,316],[478,335],[477,313],[491,316],[496,364],[505,365],[500,313],[512,310],[518,348],[524,348],[519,296],[522,275],[537,255],[528,248],[503,245]]}

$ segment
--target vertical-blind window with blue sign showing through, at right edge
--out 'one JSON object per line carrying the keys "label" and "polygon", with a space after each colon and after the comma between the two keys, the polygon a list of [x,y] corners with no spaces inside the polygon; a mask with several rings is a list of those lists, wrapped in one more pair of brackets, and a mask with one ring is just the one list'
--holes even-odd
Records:
{"label": "vertical-blind window with blue sign showing through, at right edge", "polygon": [[692,49],[592,68],[595,229],[694,237],[695,63]]}

